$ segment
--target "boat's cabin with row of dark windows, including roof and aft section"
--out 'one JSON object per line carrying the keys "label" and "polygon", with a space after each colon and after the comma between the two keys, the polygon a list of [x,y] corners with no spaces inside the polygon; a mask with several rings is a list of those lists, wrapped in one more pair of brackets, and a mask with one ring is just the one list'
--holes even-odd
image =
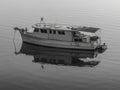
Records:
{"label": "boat's cabin with row of dark windows, including roof and aft section", "polygon": [[52,25],[52,24],[41,25],[41,23],[35,24],[32,27],[34,29],[32,35],[35,35],[35,37],[39,37],[42,39],[90,43],[91,40],[95,41],[99,38],[98,36],[95,35],[91,36],[90,34],[89,35],[85,34],[85,32],[88,33],[90,29],[92,30],[90,31],[93,34],[93,32],[97,30],[97,28],[96,29],[87,27],[73,28],[64,25]]}

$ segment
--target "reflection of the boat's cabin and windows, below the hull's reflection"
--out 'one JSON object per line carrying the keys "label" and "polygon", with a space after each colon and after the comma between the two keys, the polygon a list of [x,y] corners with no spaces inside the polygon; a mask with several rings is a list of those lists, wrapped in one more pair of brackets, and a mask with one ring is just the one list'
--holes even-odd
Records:
{"label": "reflection of the boat's cabin and windows, below the hull's reflection", "polygon": [[77,57],[49,57],[49,56],[34,56],[33,62],[55,64],[55,65],[72,65],[72,66],[96,66],[99,61],[84,61]]}

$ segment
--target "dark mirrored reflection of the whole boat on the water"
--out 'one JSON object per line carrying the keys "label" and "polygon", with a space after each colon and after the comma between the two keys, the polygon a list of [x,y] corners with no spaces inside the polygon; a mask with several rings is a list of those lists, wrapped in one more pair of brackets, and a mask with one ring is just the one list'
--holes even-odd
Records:
{"label": "dark mirrored reflection of the whole boat on the water", "polygon": [[99,54],[97,51],[64,50],[23,43],[20,51],[16,54],[21,53],[33,56],[34,60],[32,62],[42,65],[94,67],[100,63],[95,59]]}

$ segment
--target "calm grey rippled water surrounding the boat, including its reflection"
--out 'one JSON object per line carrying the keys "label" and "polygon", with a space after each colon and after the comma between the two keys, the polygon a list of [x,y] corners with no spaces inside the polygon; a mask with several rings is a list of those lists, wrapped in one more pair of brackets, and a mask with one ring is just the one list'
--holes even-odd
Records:
{"label": "calm grey rippled water surrounding the boat, including its reflection", "polygon": [[[22,43],[13,28],[40,22],[101,28],[103,53]],[[119,0],[0,0],[0,90],[119,90]],[[41,60],[40,60],[41,59]]]}

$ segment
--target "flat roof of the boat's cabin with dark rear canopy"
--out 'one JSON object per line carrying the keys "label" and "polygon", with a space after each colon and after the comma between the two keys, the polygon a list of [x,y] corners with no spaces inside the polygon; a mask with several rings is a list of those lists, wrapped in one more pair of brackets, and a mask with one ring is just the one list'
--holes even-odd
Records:
{"label": "flat roof of the boat's cabin with dark rear canopy", "polygon": [[85,27],[85,26],[71,26],[71,25],[62,25],[62,24],[41,24],[37,23],[32,26],[33,28],[40,29],[52,29],[52,30],[63,30],[63,31],[82,31],[88,33],[96,33],[99,28],[95,27]]}

